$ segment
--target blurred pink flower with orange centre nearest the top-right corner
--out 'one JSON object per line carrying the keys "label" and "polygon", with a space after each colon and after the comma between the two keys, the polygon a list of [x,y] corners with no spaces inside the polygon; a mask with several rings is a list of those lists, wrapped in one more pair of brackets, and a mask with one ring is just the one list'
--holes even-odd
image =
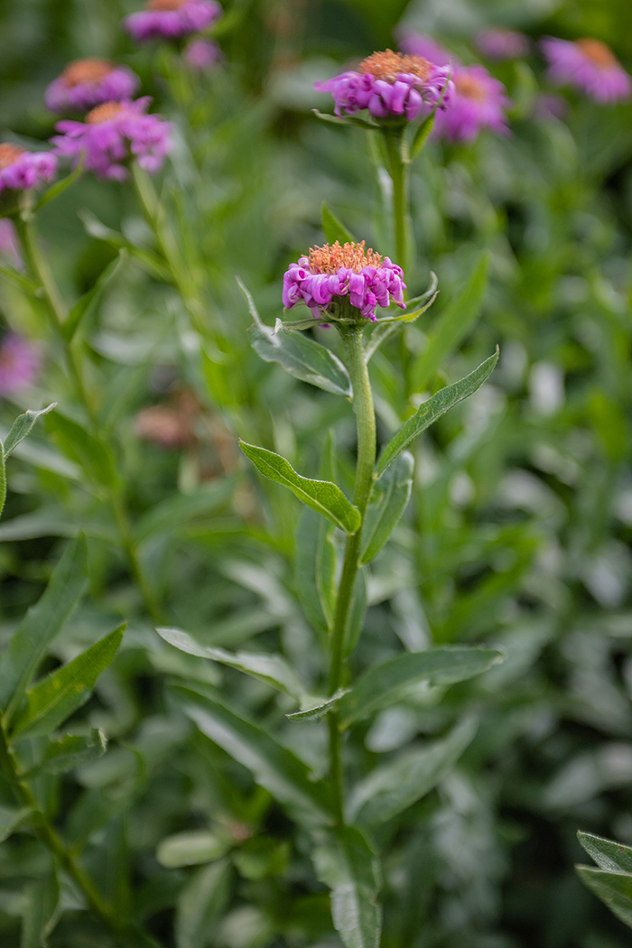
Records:
{"label": "blurred pink flower with orange centre nearest the top-right corner", "polygon": [[549,63],[549,77],[572,85],[597,102],[629,99],[632,81],[612,51],[600,40],[559,40],[545,36],[540,46]]}

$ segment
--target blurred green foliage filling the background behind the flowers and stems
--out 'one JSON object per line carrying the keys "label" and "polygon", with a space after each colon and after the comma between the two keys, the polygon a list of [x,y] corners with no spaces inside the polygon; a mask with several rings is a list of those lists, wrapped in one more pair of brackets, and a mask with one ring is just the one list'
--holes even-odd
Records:
{"label": "blurred green foliage filling the background behind the flowers and stems", "polygon": [[[288,565],[298,503],[252,477],[235,438],[274,447],[308,471],[334,429],[344,479],[351,420],[333,396],[250,352],[234,280],[242,277],[264,319],[280,315],[280,277],[322,240],[323,200],[388,250],[367,141],[313,118],[310,109],[327,103],[312,84],[393,46],[402,23],[465,62],[478,59],[479,28],[511,26],[534,41],[598,37],[629,69],[629,3],[235,0],[218,35],[225,63],[201,78],[174,52],[136,49],[118,28],[132,9],[117,0],[2,0],[0,124],[6,140],[48,137],[45,85],[68,60],[91,55],[130,64],[176,122],[163,200],[206,334],[191,333],[172,276],[139,261],[156,247],[129,186],[84,177],[43,211],[41,230],[70,298],[116,255],[106,228],[130,249],[90,315],[84,357],[116,441],[140,556],[170,624],[227,647],[280,647],[314,679],[321,660]],[[623,948],[623,925],[572,866],[581,858],[577,828],[632,843],[632,106],[569,95],[564,119],[535,119],[533,99],[546,85],[538,55],[493,68],[514,101],[512,136],[433,143],[414,166],[418,258],[408,284],[423,290],[431,268],[441,296],[423,325],[406,328],[406,376],[398,342],[374,358],[382,437],[420,392],[470,371],[496,343],[501,358],[491,382],[416,449],[413,498],[374,564],[357,662],[433,641],[500,645],[509,658],[445,697],[433,691],[388,709],[350,753],[388,759],[441,731],[465,704],[479,710],[479,735],[457,770],[391,840],[384,948]],[[482,318],[428,368],[433,320],[483,250],[491,279]],[[42,400],[55,397],[72,413],[60,354],[37,314],[9,285],[0,303],[13,329],[43,340]],[[2,424],[18,408],[39,407],[37,394],[0,404]],[[156,445],[151,415],[140,416],[144,428],[138,416],[152,406],[172,412],[188,437]],[[220,687],[278,726],[316,772],[319,729],[283,724],[286,709],[264,685],[159,642],[99,490],[55,447],[54,432],[39,430],[27,444],[9,469],[0,525],[3,640],[80,528],[90,592],[55,643],[57,658],[113,619],[130,623],[80,716],[105,730],[108,754],[63,782],[46,778],[50,811],[85,845],[103,891],[121,906],[133,900],[165,945],[333,948],[327,895],[304,841],[243,768],[192,732],[163,684],[189,675]],[[214,840],[199,866],[183,865],[177,839],[156,857],[161,841],[183,831]],[[21,943],[23,884],[45,870],[44,858],[26,834],[0,846],[8,948]],[[51,946],[112,944],[79,911],[76,893],[63,898]]]}

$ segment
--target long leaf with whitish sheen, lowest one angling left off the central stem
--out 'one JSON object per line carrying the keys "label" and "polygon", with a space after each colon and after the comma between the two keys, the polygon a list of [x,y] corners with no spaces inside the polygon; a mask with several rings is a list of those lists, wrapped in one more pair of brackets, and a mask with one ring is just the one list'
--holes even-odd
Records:
{"label": "long leaf with whitish sheen, lowest one angling left off the central stem", "polygon": [[300,822],[333,822],[329,786],[312,779],[307,765],[275,738],[193,688],[174,685],[172,693],[202,733],[247,767],[257,783],[296,813]]}

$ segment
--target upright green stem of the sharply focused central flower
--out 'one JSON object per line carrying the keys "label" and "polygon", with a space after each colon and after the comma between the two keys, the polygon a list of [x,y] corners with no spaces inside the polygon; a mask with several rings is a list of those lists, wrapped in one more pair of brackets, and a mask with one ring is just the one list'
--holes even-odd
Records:
{"label": "upright green stem of the sharply focused central flower", "polygon": [[[353,411],[357,429],[357,462],[353,503],[360,511],[360,528],[347,535],[342,574],[338,585],[332,628],[332,659],[329,672],[329,693],[333,695],[342,684],[345,672],[345,635],[352,605],[355,577],[359,569],[362,525],[364,523],[375,467],[375,411],[370,389],[369,371],[364,356],[362,324],[338,323],[345,352],[345,363],[352,381]],[[344,823],[344,788],[340,749],[340,725],[338,715],[329,715],[330,778],[334,790],[336,818]]]}

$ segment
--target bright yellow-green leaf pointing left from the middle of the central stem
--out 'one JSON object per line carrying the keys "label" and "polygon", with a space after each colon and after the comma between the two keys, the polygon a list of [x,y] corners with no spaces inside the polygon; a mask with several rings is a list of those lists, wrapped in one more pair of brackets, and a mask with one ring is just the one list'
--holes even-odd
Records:
{"label": "bright yellow-green leaf pointing left from the middle of the central stem", "polygon": [[281,458],[274,451],[266,450],[265,447],[247,445],[241,440],[240,447],[264,477],[288,487],[293,494],[297,495],[299,501],[331,520],[336,527],[350,534],[360,529],[362,520],[359,510],[347,500],[334,483],[312,481],[310,478],[301,477],[289,461]]}

